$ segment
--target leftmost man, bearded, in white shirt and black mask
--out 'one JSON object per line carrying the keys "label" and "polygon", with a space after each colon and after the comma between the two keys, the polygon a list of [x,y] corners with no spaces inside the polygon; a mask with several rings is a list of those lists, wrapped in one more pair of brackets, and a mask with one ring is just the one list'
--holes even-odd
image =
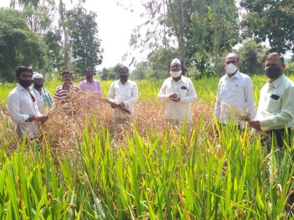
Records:
{"label": "leftmost man, bearded, in white shirt and black mask", "polygon": [[47,115],[41,115],[34,91],[29,87],[32,83],[31,68],[20,66],[16,73],[18,86],[8,96],[8,111],[13,122],[18,124],[20,138],[38,138],[40,133],[38,122],[44,123]]}

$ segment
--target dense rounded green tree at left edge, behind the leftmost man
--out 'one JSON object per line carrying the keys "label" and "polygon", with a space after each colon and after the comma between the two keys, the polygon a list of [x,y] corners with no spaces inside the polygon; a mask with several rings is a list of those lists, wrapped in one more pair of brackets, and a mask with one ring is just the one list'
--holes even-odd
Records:
{"label": "dense rounded green tree at left edge, behind the leftmost man", "polygon": [[12,82],[17,66],[43,68],[46,45],[30,31],[25,15],[0,9],[0,79]]}

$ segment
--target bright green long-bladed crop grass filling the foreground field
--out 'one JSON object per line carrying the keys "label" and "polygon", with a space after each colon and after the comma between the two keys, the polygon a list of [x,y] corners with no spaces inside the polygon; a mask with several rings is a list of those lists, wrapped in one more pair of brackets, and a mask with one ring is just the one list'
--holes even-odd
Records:
{"label": "bright green long-bladed crop grass filling the foreground field", "polygon": [[[255,100],[264,82],[253,77]],[[151,106],[160,109],[155,99],[161,83],[138,82],[137,108],[144,110],[137,112],[147,117]],[[57,85],[47,87],[52,92]],[[102,82],[104,95],[109,85]],[[293,218],[287,205],[294,190],[293,146],[267,152],[250,129],[240,134],[233,126],[216,138],[211,112],[202,107],[213,109],[217,85],[218,79],[195,82],[192,132],[155,127],[142,136],[138,119],[125,141],[113,142],[109,128],[91,119],[92,126],[76,133],[77,150],[70,155],[56,152],[46,135],[41,151],[26,146],[3,113],[0,219]],[[0,86],[2,102],[13,87]]]}

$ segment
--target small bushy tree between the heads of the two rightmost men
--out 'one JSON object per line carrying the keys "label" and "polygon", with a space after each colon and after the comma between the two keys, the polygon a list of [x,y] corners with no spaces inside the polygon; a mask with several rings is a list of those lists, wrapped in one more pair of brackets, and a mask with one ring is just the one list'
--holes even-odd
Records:
{"label": "small bushy tree between the heads of the two rightmost men", "polygon": [[264,72],[265,54],[268,49],[254,40],[245,41],[237,50],[239,68],[246,74],[260,74]]}

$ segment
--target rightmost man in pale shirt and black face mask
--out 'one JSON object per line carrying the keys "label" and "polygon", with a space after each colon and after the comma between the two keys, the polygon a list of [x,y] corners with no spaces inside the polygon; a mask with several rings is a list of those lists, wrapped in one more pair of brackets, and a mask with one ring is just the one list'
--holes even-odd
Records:
{"label": "rightmost man in pale shirt and black face mask", "polygon": [[[253,129],[273,136],[276,144],[283,147],[288,134],[290,144],[291,126],[294,123],[294,84],[283,74],[285,63],[281,54],[271,53],[265,60],[265,75],[269,81],[260,91],[256,119],[250,122]],[[270,144],[270,143],[269,143]]]}

